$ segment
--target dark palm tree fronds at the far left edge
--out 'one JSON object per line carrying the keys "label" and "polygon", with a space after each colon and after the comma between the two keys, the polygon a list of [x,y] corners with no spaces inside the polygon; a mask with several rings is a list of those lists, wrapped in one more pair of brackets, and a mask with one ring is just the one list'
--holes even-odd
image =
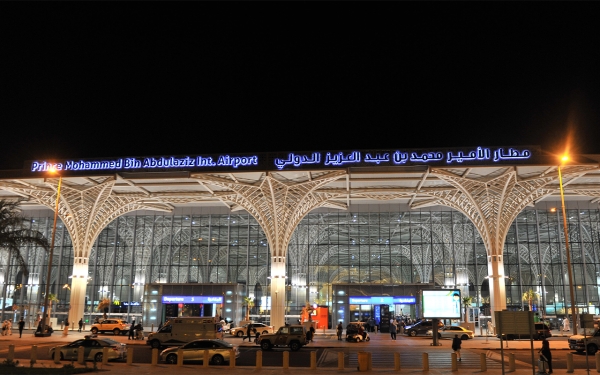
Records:
{"label": "dark palm tree fronds at the far left edge", "polygon": [[[32,244],[50,248],[48,240],[36,230],[22,229],[23,217],[19,213],[19,203],[0,200],[0,250],[6,250],[17,260],[24,276],[29,275],[27,264],[21,254],[21,246]],[[50,260],[52,261],[52,260]]]}

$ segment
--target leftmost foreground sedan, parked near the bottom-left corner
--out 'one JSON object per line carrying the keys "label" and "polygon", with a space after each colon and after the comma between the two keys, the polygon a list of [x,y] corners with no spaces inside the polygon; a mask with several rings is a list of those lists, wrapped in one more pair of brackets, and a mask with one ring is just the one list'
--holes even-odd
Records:
{"label": "leftmost foreground sedan, parked near the bottom-left corner", "polygon": [[127,358],[127,345],[105,338],[85,338],[81,340],[75,340],[67,345],[50,348],[48,353],[50,354],[51,358],[54,358],[54,352],[56,350],[60,350],[61,360],[66,359],[75,361],[77,360],[80,346],[83,346],[83,358],[88,361],[101,362],[103,357],[102,352],[105,347],[109,348],[108,360]]}

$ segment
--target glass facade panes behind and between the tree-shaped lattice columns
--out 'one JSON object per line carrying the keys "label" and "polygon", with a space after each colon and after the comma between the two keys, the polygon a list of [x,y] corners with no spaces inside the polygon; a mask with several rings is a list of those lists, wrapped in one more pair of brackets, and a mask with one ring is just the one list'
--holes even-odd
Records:
{"label": "glass facade panes behind and between the tree-shaped lattice columns", "polygon": [[[33,216],[24,226],[50,237],[51,212]],[[567,218],[576,301],[581,312],[598,314],[600,211],[570,208]],[[564,248],[560,209],[519,214],[504,248],[509,309],[528,309],[522,296],[533,290],[539,296],[534,310],[548,316],[569,312]],[[31,246],[22,251],[28,277],[7,252],[0,252],[2,320],[18,314],[35,319],[43,304],[47,254]],[[286,314],[296,319],[310,302],[329,307],[337,321],[340,299],[334,294],[339,290],[346,295],[386,295],[395,293],[390,290],[412,290],[397,286],[418,284],[461,289],[485,312],[486,257],[474,225],[457,211],[403,211],[393,205],[359,205],[350,212],[317,210],[301,221],[289,244]],[[266,236],[245,212],[122,216],[102,231],[91,251],[85,320],[103,313],[96,308],[103,298],[112,302],[111,315],[142,317],[145,289],[151,284],[239,284],[244,296],[256,301],[251,316],[264,317],[270,309],[269,260]],[[69,309],[73,248],[60,222],[52,264],[50,290],[59,299],[52,315],[61,320]]]}

